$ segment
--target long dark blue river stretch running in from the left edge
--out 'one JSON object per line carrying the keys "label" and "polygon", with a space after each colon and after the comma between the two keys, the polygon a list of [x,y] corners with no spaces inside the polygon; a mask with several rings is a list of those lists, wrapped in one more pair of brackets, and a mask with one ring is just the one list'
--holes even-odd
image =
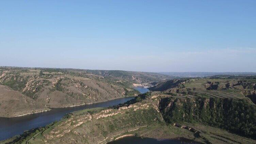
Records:
{"label": "long dark blue river stretch running in from the left edge", "polygon": [[17,118],[0,118],[0,141],[11,138],[15,135],[22,134],[25,130],[29,130],[36,127],[43,127],[54,121],[58,121],[66,113],[78,111],[87,108],[96,107],[109,107],[118,105],[120,103],[127,102],[133,97],[124,97],[111,100],[108,102],[83,105],[70,108],[53,108],[51,111],[36,113],[27,116],[21,116]]}

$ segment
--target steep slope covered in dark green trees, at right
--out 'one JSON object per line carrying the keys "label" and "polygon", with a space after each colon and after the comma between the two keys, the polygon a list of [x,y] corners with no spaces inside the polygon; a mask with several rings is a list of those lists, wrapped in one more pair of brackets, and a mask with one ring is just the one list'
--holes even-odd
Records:
{"label": "steep slope covered in dark green trees, at right", "polygon": [[[171,107],[167,107],[172,103]],[[160,109],[167,123],[200,122],[256,138],[256,106],[228,98],[163,98]]]}

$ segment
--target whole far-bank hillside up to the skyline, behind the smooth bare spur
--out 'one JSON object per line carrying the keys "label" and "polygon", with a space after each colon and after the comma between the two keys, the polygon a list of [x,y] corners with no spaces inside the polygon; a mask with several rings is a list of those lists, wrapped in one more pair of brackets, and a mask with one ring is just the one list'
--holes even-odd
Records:
{"label": "whole far-bank hillside up to the skyline, behind the smooth bare spur", "polygon": [[[16,91],[19,93],[17,96],[29,97],[42,108],[77,106],[135,96],[139,91],[133,89],[133,84],[151,83],[165,78],[170,77],[127,71],[15,67],[0,69],[0,85]],[[3,101],[3,97],[0,98]],[[11,103],[9,100],[11,101],[4,99],[6,104]],[[19,105],[23,105],[21,101],[16,101],[19,102]],[[20,112],[25,110],[22,107],[19,109]],[[6,114],[11,114],[8,111],[6,109]]]}

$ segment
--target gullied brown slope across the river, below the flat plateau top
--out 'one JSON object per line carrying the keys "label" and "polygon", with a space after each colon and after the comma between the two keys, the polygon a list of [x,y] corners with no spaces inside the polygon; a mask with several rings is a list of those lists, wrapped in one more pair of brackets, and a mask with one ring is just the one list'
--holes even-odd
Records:
{"label": "gullied brown slope across the river, below the flat plateau top", "polygon": [[1,71],[0,84],[31,97],[46,107],[69,107],[98,103],[121,98],[138,91],[110,84],[101,77],[79,77],[64,74],[45,74],[39,72]]}

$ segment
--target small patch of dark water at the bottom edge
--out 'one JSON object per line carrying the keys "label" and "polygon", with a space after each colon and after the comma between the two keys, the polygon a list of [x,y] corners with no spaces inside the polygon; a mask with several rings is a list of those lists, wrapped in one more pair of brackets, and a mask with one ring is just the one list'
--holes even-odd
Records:
{"label": "small patch of dark water at the bottom edge", "polygon": [[181,141],[181,140],[164,140],[158,141],[152,138],[140,137],[125,137],[116,141],[109,142],[108,144],[197,144],[195,142]]}

